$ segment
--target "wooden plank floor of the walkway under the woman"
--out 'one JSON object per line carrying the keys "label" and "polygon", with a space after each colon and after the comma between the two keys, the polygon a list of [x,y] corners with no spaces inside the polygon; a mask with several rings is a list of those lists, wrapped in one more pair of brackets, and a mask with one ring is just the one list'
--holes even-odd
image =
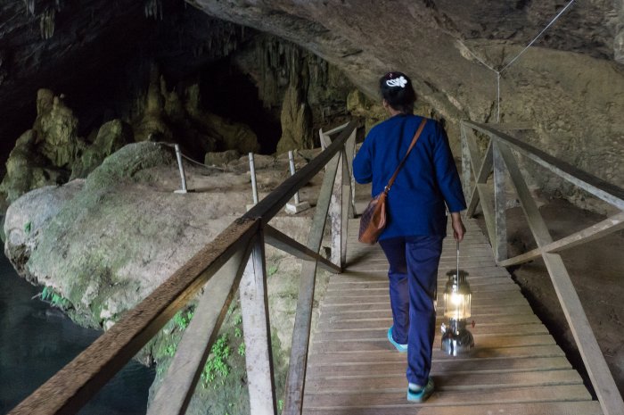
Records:
{"label": "wooden plank floor of the walkway under the woman", "polygon": [[[349,223],[348,270],[332,276],[320,305],[308,359],[305,414],[602,414],[519,287],[496,266],[473,220],[466,223],[460,268],[470,273],[475,350],[447,356],[439,350],[438,330],[431,368],[436,391],[426,403],[408,403],[406,354],[386,338],[392,324],[388,262],[379,245],[357,243],[357,226],[357,220]],[[446,272],[456,267],[455,249],[454,239],[445,239],[439,298]]]}

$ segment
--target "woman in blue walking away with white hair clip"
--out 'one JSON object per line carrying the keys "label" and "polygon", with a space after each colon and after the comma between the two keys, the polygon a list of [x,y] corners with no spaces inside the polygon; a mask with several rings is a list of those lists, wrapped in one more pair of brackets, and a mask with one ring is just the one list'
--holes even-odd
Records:
{"label": "woman in blue walking away with white hair clip", "polygon": [[[388,184],[423,120],[413,114],[416,95],[404,73],[387,73],[380,88],[390,119],[370,130],[353,161],[357,182],[372,182],[373,195]],[[435,120],[426,120],[387,197],[388,225],[379,244],[390,262],[388,340],[398,352],[407,352],[407,400],[423,402],[434,388],[429,372],[446,208],[456,240],[462,241],[465,232],[459,213],[466,208],[464,193],[447,134]]]}

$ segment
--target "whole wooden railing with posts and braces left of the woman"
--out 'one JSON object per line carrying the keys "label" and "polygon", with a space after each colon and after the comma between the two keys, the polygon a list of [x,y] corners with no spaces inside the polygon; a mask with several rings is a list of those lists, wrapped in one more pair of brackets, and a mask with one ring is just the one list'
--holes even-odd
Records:
{"label": "whole wooden railing with posts and braces left of the woman", "polygon": [[[283,414],[299,414],[305,386],[316,267],[338,273],[346,258],[347,217],[352,213],[350,161],[356,127],[356,122],[352,121],[339,129],[321,132],[323,140],[340,134],[331,144],[325,142],[326,148],[321,154],[234,220],[10,413],[76,413],[203,288],[193,320],[177,345],[177,353],[148,413],[185,413],[226,311],[236,291],[240,291],[251,413],[276,414],[265,265],[264,244],[267,243],[303,260],[283,407]],[[302,245],[268,225],[268,221],[324,168],[308,243]],[[318,253],[328,212],[333,231],[333,261]]]}

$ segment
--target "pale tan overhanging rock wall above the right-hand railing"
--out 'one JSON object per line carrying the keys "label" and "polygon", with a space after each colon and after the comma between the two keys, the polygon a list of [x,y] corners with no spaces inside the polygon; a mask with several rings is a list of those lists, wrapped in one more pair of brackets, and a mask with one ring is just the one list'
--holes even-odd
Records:
{"label": "pale tan overhanging rock wall above the right-hand railing", "polygon": [[[446,119],[497,121],[497,74],[565,4],[561,1],[194,0],[212,16],[291,40],[377,97],[390,70]],[[566,162],[624,183],[622,2],[576,2],[502,73],[500,122],[525,121],[532,141]],[[471,52],[468,52],[468,51]],[[454,125],[455,124],[455,125]],[[538,187],[556,188],[546,179]],[[549,184],[550,183],[550,184]],[[583,204],[581,199],[569,195]],[[587,206],[590,207],[590,206]]]}

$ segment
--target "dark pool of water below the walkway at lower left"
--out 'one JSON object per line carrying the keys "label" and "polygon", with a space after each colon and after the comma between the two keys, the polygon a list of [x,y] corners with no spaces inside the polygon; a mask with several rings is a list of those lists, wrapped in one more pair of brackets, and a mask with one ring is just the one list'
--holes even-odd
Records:
{"label": "dark pool of water below the walkway at lower left", "polygon": [[[102,333],[81,328],[46,303],[0,254],[0,414],[11,411]],[[79,413],[144,414],[154,370],[130,361]]]}

